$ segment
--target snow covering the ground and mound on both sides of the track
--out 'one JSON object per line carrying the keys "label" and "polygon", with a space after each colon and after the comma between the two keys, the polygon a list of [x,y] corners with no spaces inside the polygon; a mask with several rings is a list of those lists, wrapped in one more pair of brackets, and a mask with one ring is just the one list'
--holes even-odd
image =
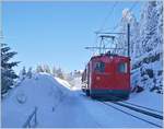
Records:
{"label": "snow covering the ground and mound on both sides of the track", "polygon": [[[155,127],[86,97],[80,91],[80,78],[74,82],[77,83],[72,87],[67,81],[48,74],[37,74],[33,79],[24,80],[2,101],[2,127],[22,127],[34,107],[38,108],[37,127],[40,128]],[[148,91],[133,93],[128,102],[162,110],[161,94]],[[152,120],[162,126],[162,121],[154,118]]]}

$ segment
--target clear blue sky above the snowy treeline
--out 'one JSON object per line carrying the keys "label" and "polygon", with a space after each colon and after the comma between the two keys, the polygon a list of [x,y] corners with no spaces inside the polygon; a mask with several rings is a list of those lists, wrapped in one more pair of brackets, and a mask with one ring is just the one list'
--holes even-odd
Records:
{"label": "clear blue sky above the snowy treeline", "polygon": [[[91,51],[84,47],[95,44],[99,30],[115,2],[3,2],[2,31],[4,42],[19,54],[22,61],[16,71],[47,63],[66,71],[84,69]],[[117,2],[104,27],[114,27],[121,11],[133,2]],[[141,3],[133,9],[140,16]]]}

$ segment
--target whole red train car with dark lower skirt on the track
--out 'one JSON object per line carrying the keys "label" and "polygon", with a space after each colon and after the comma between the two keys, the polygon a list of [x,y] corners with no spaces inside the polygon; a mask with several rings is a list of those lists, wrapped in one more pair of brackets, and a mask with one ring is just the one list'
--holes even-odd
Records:
{"label": "whole red train car with dark lower skirt on the track", "polygon": [[94,98],[128,98],[130,58],[110,52],[92,57],[82,74],[82,91]]}

